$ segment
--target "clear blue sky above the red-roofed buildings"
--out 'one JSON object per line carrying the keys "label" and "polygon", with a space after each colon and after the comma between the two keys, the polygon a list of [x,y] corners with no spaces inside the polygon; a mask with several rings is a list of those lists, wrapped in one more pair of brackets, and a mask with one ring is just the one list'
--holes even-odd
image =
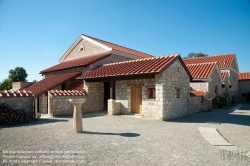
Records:
{"label": "clear blue sky above the red-roofed buildings", "polygon": [[0,0],[0,81],[28,81],[86,34],[151,55],[236,53],[250,71],[249,0]]}

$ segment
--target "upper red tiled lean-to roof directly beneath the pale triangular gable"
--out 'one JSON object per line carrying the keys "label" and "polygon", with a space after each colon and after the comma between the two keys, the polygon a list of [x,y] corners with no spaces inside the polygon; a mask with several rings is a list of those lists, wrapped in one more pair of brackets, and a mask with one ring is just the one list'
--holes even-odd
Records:
{"label": "upper red tiled lean-to roof directly beneath the pale triangular gable", "polygon": [[70,69],[70,68],[75,68],[75,67],[81,67],[81,66],[86,66],[90,65],[92,63],[95,63],[103,58],[106,58],[109,56],[110,53],[103,53],[103,54],[98,54],[98,55],[91,55],[91,56],[86,56],[82,58],[77,58],[74,60],[69,60],[69,61],[63,61],[55,66],[52,66],[50,68],[47,68],[45,70],[42,70],[40,73],[48,73],[52,71],[58,71],[58,70],[64,70],[64,69]]}

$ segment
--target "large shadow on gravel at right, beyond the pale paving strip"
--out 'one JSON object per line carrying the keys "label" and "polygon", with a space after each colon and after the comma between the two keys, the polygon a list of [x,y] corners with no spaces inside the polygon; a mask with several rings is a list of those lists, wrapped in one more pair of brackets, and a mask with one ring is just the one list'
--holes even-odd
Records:
{"label": "large shadow on gravel at right, beyond the pale paving strip", "polygon": [[229,109],[217,109],[213,112],[198,112],[185,117],[168,120],[168,122],[212,124],[230,123],[250,126],[250,104],[244,104],[239,110],[235,112],[234,110]]}

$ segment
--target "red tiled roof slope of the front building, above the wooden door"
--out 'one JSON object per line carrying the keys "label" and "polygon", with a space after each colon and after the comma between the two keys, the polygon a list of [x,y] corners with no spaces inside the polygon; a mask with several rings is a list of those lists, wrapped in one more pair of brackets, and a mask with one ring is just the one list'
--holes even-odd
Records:
{"label": "red tiled roof slope of the front building, above the wooden door", "polygon": [[[138,60],[106,64],[97,69],[88,71],[77,79],[156,74],[168,67],[172,62],[174,62],[178,58],[181,60],[179,54],[175,54],[169,56],[144,58]],[[183,66],[185,65],[183,64]]]}

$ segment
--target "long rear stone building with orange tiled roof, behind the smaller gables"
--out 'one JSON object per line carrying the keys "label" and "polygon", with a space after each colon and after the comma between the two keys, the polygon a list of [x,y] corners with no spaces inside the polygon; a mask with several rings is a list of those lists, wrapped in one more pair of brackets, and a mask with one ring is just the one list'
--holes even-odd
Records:
{"label": "long rear stone building with orange tiled roof, behind the smaller gables", "polygon": [[[219,66],[220,72],[227,72],[228,73],[229,80],[228,81],[225,80],[225,82],[227,82],[228,89],[226,88],[226,84],[223,81],[224,85],[215,84],[215,85],[211,86],[211,88],[209,89],[209,92],[215,92],[217,87],[218,87],[219,93],[227,90],[227,92],[231,96],[236,96],[236,97],[238,96],[239,68],[238,68],[238,63],[237,63],[237,59],[236,59],[236,54],[223,54],[223,55],[216,55],[216,56],[189,58],[189,59],[183,59],[183,61],[186,65],[216,62]],[[220,75],[221,75],[221,73],[220,73]],[[222,77],[222,76],[220,76],[220,77]],[[217,87],[216,87],[216,85],[217,85]],[[222,88],[222,90],[219,90],[221,88]]]}

